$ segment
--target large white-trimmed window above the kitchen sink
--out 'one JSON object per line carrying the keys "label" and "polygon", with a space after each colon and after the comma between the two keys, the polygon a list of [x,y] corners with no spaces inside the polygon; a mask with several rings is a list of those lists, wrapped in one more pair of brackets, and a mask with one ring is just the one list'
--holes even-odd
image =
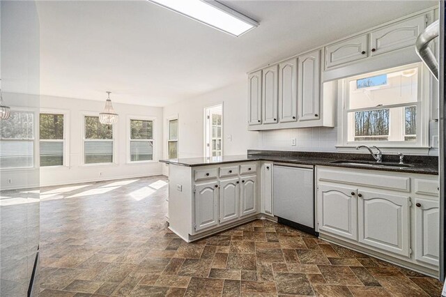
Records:
{"label": "large white-trimmed window above the kitchen sink", "polygon": [[344,145],[422,146],[423,71],[415,63],[344,79]]}

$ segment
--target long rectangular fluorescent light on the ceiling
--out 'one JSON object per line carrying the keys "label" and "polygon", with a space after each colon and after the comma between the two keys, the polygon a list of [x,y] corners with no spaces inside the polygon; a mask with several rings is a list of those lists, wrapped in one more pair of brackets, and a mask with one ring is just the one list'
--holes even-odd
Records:
{"label": "long rectangular fluorescent light on the ceiling", "polygon": [[259,24],[213,0],[148,0],[208,26],[240,36]]}

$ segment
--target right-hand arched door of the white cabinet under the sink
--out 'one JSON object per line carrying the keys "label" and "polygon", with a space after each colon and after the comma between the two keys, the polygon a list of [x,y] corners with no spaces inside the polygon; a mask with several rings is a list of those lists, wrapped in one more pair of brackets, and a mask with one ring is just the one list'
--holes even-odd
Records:
{"label": "right-hand arched door of the white cabinet under the sink", "polygon": [[359,242],[410,257],[409,203],[408,196],[358,190]]}

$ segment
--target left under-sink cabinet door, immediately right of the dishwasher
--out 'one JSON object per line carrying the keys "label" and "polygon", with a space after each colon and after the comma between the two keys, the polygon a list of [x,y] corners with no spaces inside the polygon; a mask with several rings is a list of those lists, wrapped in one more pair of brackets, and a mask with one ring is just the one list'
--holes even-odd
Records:
{"label": "left under-sink cabinet door, immediately right of the dishwasher", "polygon": [[356,192],[356,188],[319,184],[318,229],[356,241]]}

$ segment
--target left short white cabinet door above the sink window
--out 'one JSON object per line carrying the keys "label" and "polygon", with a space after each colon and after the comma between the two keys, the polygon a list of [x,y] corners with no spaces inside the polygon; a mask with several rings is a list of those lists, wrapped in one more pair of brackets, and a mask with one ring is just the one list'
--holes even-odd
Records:
{"label": "left short white cabinet door above the sink window", "polygon": [[367,58],[367,34],[325,47],[325,69]]}

